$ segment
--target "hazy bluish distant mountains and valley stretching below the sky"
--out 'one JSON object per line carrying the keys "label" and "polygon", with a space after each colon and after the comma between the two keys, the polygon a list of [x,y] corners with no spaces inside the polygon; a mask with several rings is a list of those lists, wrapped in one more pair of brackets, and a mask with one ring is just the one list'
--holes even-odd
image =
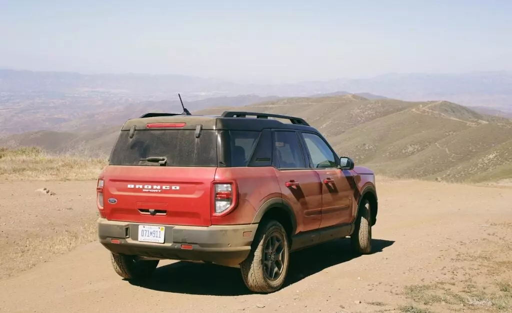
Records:
{"label": "hazy bluish distant mountains and valley stretching below the sky", "polygon": [[353,94],[369,100],[446,100],[484,114],[512,115],[509,72],[387,74],[366,80],[262,85],[183,75],[0,70],[0,135],[37,130],[81,133],[148,111],[181,112],[178,92],[192,112],[284,98]]}

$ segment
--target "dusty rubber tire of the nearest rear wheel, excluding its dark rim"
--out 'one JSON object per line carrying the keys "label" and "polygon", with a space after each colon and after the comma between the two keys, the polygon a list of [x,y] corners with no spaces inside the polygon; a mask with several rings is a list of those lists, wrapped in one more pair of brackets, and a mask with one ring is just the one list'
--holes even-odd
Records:
{"label": "dusty rubber tire of the nearest rear wheel, excluding its dark rim", "polygon": [[[271,280],[265,272],[265,246],[271,237],[278,236],[282,240],[282,270],[280,276]],[[275,237],[274,237],[275,238]],[[242,278],[249,290],[252,292],[261,292],[268,294],[279,290],[286,279],[288,273],[288,263],[290,258],[290,246],[286,231],[277,221],[263,221],[256,232],[252,243],[251,252],[247,259],[240,264]]]}

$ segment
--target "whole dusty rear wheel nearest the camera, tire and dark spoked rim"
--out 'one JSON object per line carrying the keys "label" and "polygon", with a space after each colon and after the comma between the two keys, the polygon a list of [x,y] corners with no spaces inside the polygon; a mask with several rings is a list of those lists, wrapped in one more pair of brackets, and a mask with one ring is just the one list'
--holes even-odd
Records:
{"label": "whole dusty rear wheel nearest the camera, tire and dark spoked rim", "polygon": [[249,290],[269,293],[283,286],[290,247],[286,231],[279,222],[265,221],[260,227],[254,238],[255,246],[240,269]]}

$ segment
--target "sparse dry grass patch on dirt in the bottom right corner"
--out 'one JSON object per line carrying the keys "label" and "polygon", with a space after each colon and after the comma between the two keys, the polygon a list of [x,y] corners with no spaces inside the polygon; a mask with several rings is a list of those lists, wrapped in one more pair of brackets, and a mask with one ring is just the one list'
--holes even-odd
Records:
{"label": "sparse dry grass patch on dirt in the bottom right corner", "polygon": [[413,306],[434,311],[512,312],[512,246],[506,237],[510,224],[481,227],[485,237],[459,241],[452,249],[451,265],[441,268],[448,280],[403,288],[403,296]]}

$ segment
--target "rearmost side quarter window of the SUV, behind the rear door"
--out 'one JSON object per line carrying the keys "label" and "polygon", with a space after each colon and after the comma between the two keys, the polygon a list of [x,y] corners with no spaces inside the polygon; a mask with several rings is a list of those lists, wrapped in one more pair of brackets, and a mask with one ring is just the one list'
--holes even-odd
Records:
{"label": "rearmost side quarter window of the SUV, behind the rear door", "polygon": [[260,132],[231,130],[229,136],[231,141],[231,167],[247,166]]}

